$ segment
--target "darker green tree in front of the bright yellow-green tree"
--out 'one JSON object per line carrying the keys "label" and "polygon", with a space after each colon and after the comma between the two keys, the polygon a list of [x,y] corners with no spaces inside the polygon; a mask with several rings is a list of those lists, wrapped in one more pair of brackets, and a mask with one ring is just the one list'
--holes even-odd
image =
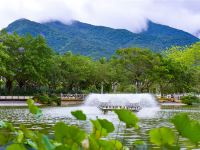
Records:
{"label": "darker green tree in front of the bright yellow-green tree", "polygon": [[188,92],[193,85],[193,72],[174,60],[164,57],[161,60],[160,66],[154,70],[161,96],[164,93]]}

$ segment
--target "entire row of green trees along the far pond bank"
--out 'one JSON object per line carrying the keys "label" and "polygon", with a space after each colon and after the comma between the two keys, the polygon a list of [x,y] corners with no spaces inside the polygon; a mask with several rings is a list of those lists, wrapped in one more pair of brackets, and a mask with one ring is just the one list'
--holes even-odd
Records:
{"label": "entire row of green trees along the far pond bank", "polygon": [[200,43],[162,54],[125,48],[111,58],[56,54],[42,36],[0,33],[1,95],[200,92]]}

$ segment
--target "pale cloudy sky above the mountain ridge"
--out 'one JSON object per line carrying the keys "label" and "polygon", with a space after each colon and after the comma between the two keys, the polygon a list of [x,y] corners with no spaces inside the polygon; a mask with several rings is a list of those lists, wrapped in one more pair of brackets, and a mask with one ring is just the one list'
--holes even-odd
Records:
{"label": "pale cloudy sky above the mountain ridge", "polygon": [[0,0],[0,28],[16,19],[79,20],[95,25],[145,30],[147,20],[195,34],[200,0]]}

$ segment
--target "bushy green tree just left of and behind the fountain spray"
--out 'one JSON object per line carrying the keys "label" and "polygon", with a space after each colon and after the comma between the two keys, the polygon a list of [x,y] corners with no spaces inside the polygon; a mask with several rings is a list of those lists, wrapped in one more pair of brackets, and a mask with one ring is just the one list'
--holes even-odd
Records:
{"label": "bushy green tree just left of and behind the fountain spray", "polygon": [[94,79],[94,62],[91,58],[66,53],[61,62],[63,87],[68,92],[81,92]]}

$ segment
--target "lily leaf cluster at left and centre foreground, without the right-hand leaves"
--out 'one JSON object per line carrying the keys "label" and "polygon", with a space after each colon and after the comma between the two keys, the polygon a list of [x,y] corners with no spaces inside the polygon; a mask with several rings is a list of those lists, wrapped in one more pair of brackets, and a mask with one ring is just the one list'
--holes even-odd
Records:
{"label": "lily leaf cluster at left and centre foreground, without the right-hand leaves", "polygon": [[[42,111],[34,104],[34,100],[27,100],[30,113],[36,117],[42,115]],[[120,122],[127,127],[137,127],[138,118],[128,110],[115,112]],[[81,111],[72,111],[80,122],[87,120],[87,116]],[[117,139],[109,139],[108,135],[115,131],[112,122],[106,119],[90,120],[91,133],[87,133],[78,125],[68,125],[57,122],[53,127],[54,135],[49,137],[40,131],[32,131],[21,124],[14,128],[11,123],[0,121],[0,146],[6,150],[122,150],[127,149]]]}

